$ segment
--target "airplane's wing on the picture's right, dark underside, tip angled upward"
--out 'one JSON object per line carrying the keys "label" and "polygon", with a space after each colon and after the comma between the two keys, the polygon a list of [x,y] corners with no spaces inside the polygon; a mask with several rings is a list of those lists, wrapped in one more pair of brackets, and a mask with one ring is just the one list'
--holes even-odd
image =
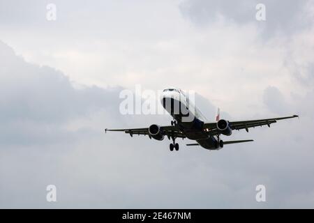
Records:
{"label": "airplane's wing on the picture's right, dark underside, tip angled upward", "polygon": [[[278,120],[283,120],[287,118],[297,118],[299,116],[285,116],[285,117],[278,117],[278,118],[265,118],[265,119],[256,119],[256,120],[246,120],[246,121],[230,121],[230,128],[232,130],[242,130],[245,129],[248,132],[249,128],[255,128],[257,126],[262,125],[270,125],[272,123],[276,123]],[[204,123],[204,129],[207,130],[211,135],[219,134],[216,123]]]}

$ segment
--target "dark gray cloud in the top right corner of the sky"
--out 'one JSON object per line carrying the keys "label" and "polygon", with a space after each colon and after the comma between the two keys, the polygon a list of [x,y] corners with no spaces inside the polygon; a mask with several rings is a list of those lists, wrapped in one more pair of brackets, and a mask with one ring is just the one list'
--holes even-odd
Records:
{"label": "dark gray cloud in the top right corner of the sky", "polygon": [[[255,20],[257,3],[266,6],[266,21]],[[185,17],[197,25],[203,26],[216,22],[222,15],[229,22],[237,24],[255,24],[262,31],[264,37],[269,38],[277,33],[289,35],[313,25],[308,7],[308,0],[304,1],[183,1],[180,5]]]}

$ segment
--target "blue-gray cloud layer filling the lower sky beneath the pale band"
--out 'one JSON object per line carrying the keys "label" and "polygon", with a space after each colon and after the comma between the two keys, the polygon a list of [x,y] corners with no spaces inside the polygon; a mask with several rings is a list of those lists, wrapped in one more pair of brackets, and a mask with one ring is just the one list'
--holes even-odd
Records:
{"label": "blue-gray cloud layer filling the lower sky beneath the pale band", "polygon": [[[104,134],[106,127],[170,123],[169,116],[121,116],[120,88],[76,89],[61,71],[27,63],[3,43],[0,69],[1,208],[314,206],[313,86],[285,109],[277,103],[287,95],[266,89],[267,111],[293,109],[301,118],[232,134],[254,143],[206,151],[187,148],[184,139],[180,151],[170,153],[167,140]],[[196,102],[211,120],[214,105],[200,95]],[[232,119],[231,112],[223,116]],[[57,185],[57,203],[45,201],[48,184]],[[266,203],[255,201],[257,184],[267,186]]]}

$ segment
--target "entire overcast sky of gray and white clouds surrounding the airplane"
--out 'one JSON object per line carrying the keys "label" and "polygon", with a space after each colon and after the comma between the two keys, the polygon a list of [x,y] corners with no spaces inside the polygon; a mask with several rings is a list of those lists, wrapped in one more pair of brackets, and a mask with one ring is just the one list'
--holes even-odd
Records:
{"label": "entire overcast sky of gray and white clouds surrounding the airplane", "polygon": [[[306,0],[0,1],[0,208],[314,208],[313,19]],[[169,125],[119,114],[135,84],[196,91],[209,120],[300,118],[170,153],[104,134]]]}

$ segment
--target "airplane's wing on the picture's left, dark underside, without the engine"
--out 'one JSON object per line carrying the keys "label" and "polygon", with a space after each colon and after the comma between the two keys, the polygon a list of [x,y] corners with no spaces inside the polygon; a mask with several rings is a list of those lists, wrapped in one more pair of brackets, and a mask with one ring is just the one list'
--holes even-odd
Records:
{"label": "airplane's wing on the picture's left, dark underside, without the engine", "polygon": [[[163,130],[163,134],[167,136],[169,139],[170,137],[177,137],[177,138],[186,138],[186,136],[177,128],[177,126],[174,125],[165,125],[160,126],[160,128]],[[133,134],[137,135],[148,135],[149,138],[151,136],[149,135],[149,128],[126,128],[126,129],[105,129],[105,132],[112,131],[112,132],[125,132],[127,134],[130,134],[131,137],[133,137]]]}

